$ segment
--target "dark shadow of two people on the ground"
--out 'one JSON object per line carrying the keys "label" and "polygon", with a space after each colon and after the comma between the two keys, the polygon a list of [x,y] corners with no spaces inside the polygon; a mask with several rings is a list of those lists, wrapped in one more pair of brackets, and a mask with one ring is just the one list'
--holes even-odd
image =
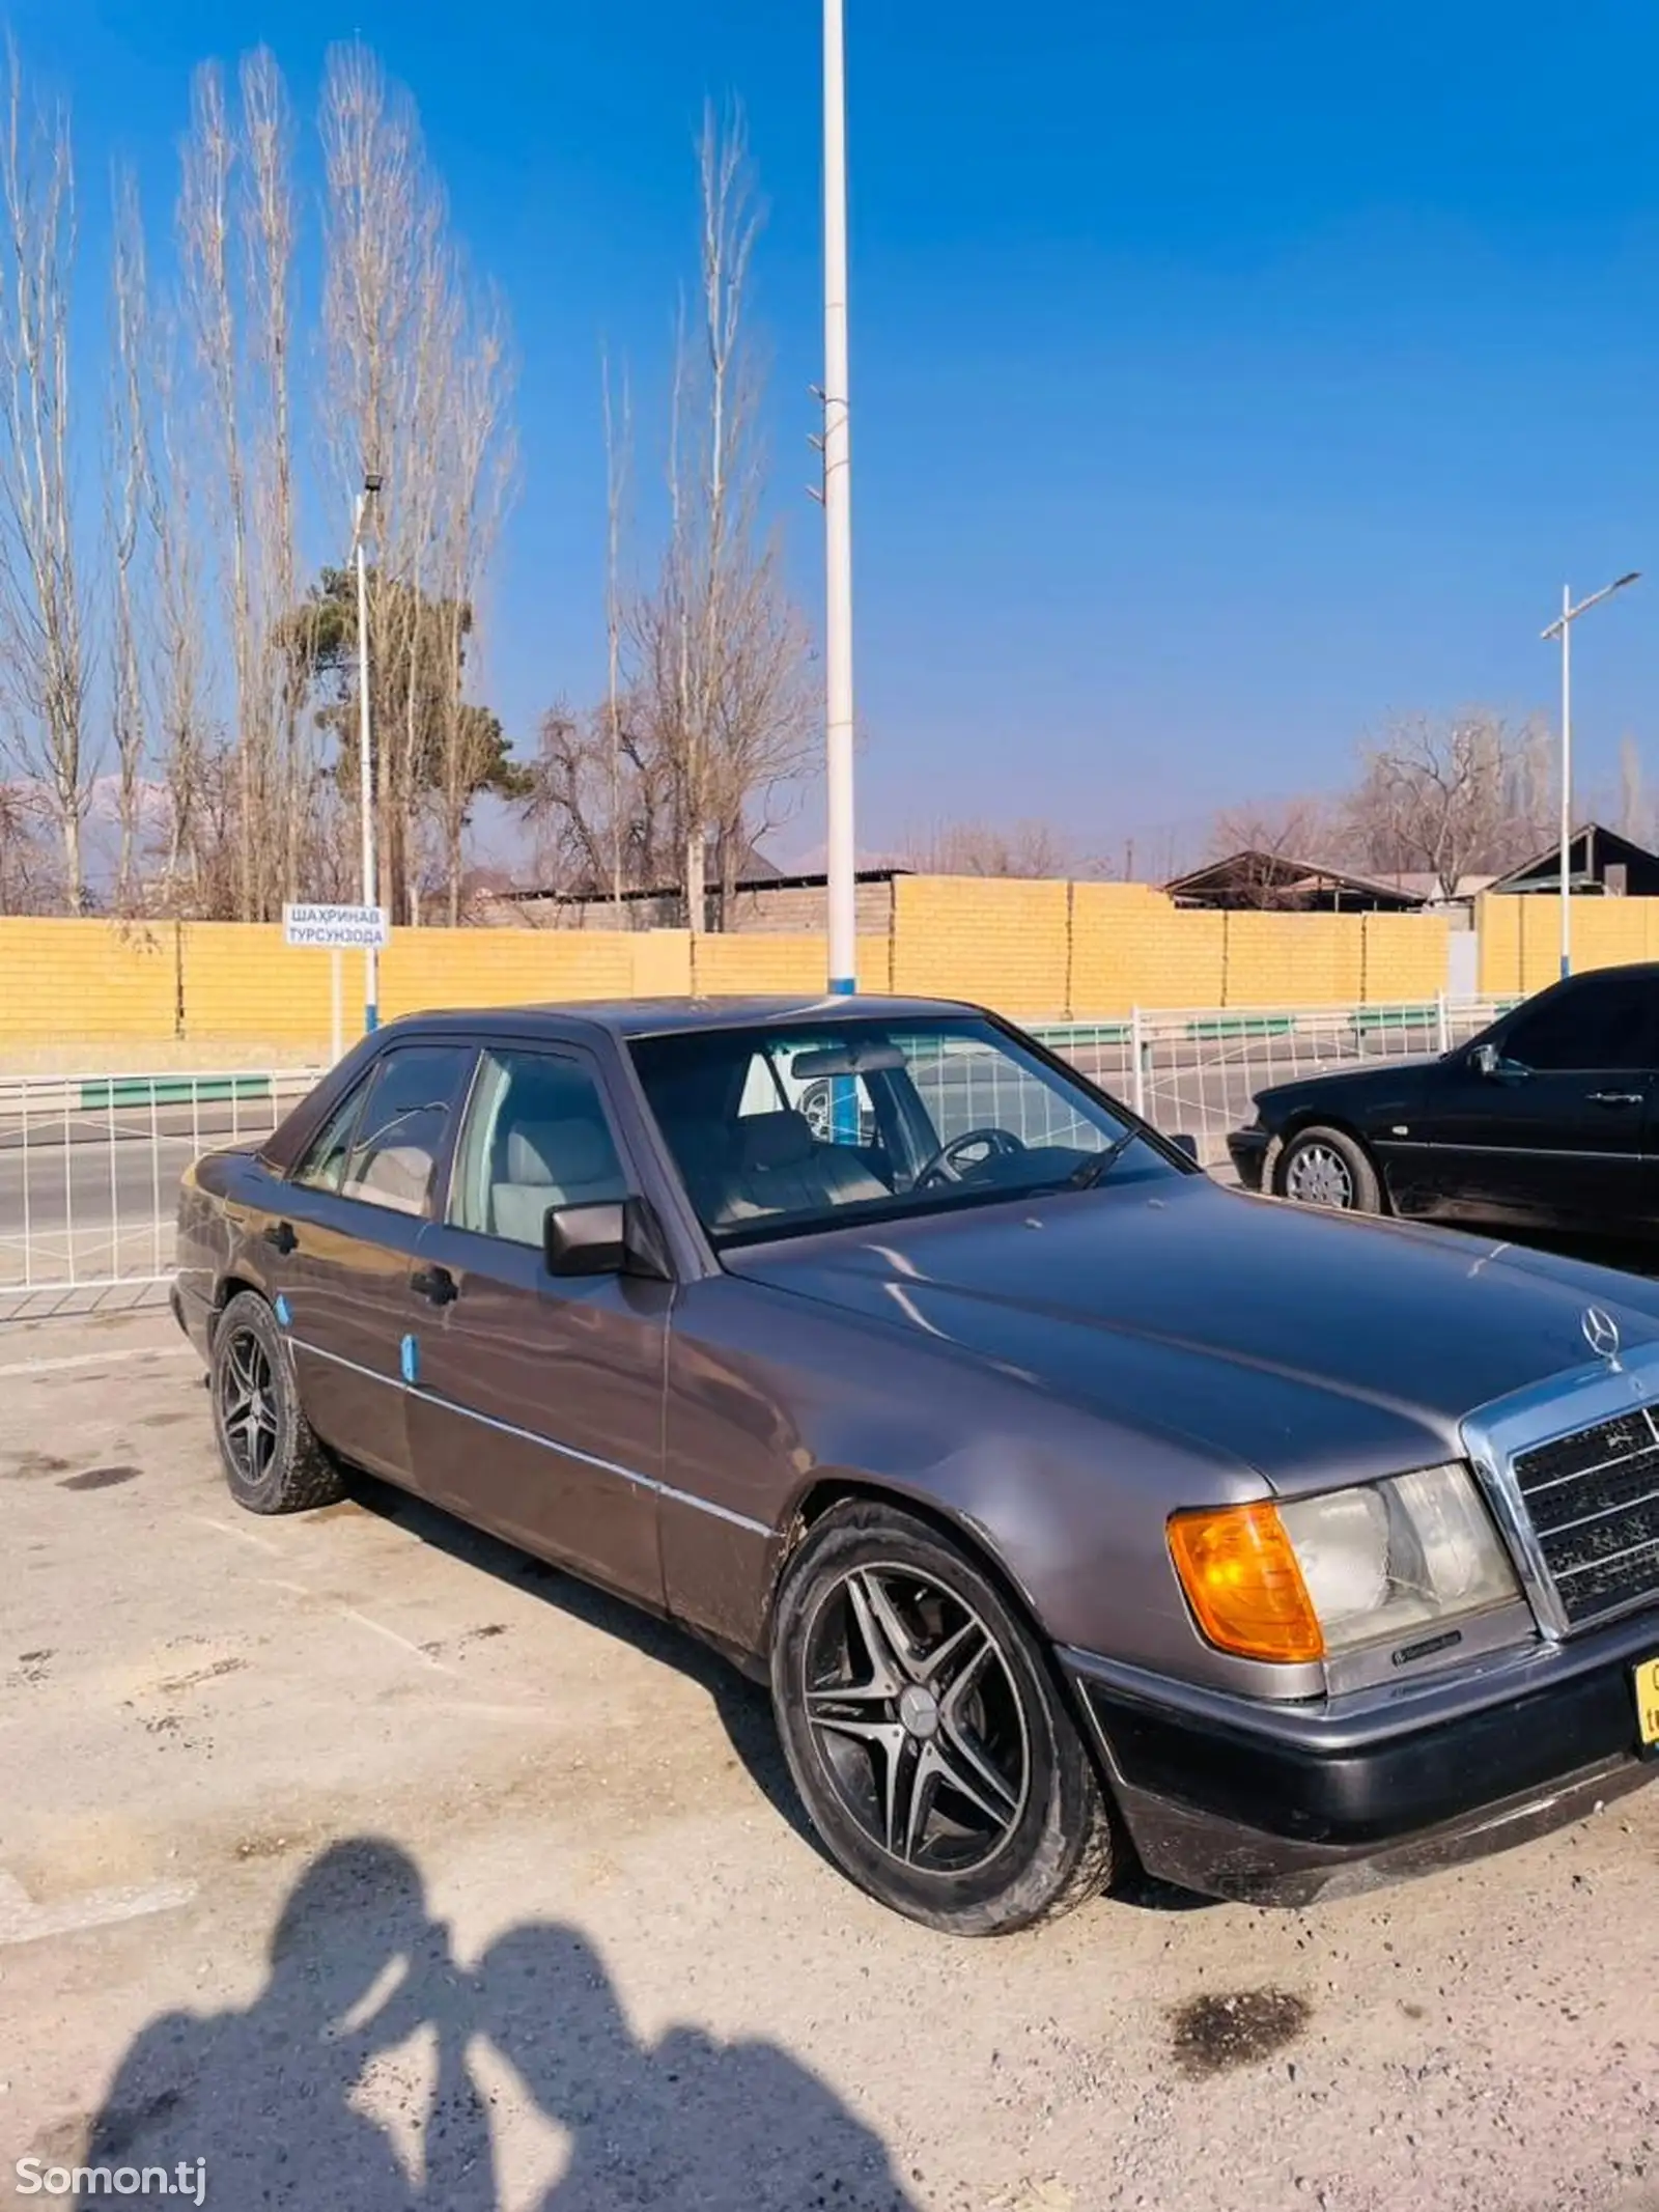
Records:
{"label": "dark shadow of two people on the ground", "polygon": [[[436,2086],[405,2106],[394,2141],[363,2110],[361,2079],[418,2031],[436,2048]],[[507,2062],[495,2081],[511,2075],[566,2137],[566,2168],[538,2212],[911,2208],[880,2139],[785,2051],[688,2026],[639,2042],[580,1931],[522,1922],[460,1969],[420,1869],[374,1836],[332,1845],[301,1874],[248,2011],[170,2013],[135,2039],[84,2163],[195,2170],[201,2159],[201,2201],[228,2212],[495,2212],[522,2192],[495,2172],[471,2070],[480,2037]],[[511,2110],[500,2117],[511,2135]],[[84,2203],[91,2212],[102,2194]]]}

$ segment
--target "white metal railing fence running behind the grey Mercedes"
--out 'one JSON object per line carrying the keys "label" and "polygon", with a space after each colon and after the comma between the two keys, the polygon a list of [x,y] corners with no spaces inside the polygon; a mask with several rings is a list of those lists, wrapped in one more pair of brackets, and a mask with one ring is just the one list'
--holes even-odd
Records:
{"label": "white metal railing fence running behind the grey Mercedes", "polygon": [[[1035,1033],[1159,1128],[1192,1135],[1214,1166],[1267,1084],[1442,1053],[1500,1011],[1495,1000],[1137,1009]],[[272,1130],[316,1073],[0,1077],[0,1318],[69,1292],[139,1294],[161,1283],[184,1168],[197,1152]],[[971,1126],[984,1119],[982,1104],[962,1088],[949,1119],[967,1115]]]}

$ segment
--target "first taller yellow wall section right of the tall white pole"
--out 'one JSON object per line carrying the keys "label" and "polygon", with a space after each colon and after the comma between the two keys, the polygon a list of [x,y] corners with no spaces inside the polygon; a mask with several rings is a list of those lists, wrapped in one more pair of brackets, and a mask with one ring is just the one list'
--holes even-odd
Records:
{"label": "first taller yellow wall section right of the tall white pole", "polygon": [[971,998],[1004,1013],[1066,1011],[1066,883],[898,876],[894,991]]}

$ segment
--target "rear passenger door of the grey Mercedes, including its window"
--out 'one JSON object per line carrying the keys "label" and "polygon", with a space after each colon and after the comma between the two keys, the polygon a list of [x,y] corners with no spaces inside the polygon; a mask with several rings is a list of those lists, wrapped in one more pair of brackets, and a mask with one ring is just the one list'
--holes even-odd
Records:
{"label": "rear passenger door of the grey Mercedes, including its window", "polygon": [[409,1270],[471,1064],[471,1046],[387,1048],[279,1186],[261,1232],[307,1420],[394,1482],[411,1480]]}

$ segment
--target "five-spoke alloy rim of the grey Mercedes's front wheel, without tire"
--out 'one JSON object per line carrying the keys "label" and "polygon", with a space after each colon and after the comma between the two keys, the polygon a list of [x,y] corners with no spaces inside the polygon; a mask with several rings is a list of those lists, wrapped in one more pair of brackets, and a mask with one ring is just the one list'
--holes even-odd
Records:
{"label": "five-spoke alloy rim of the grey Mercedes's front wheel, without tire", "polygon": [[1020,1823],[1031,1745],[1009,1663],[980,1615],[911,1566],[856,1566],[803,1646],[823,1770],[889,1858],[971,1874]]}

